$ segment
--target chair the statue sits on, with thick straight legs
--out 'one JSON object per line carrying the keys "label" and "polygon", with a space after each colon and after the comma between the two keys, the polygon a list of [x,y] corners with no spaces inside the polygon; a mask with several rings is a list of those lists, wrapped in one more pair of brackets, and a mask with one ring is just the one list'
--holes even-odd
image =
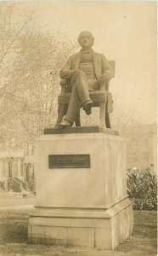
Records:
{"label": "chair the statue sits on, with thick straight legs", "polygon": [[[112,78],[115,77],[116,61],[109,61],[112,70]],[[67,112],[69,106],[69,100],[71,92],[67,86],[66,79],[60,81],[61,92],[58,96],[58,119],[55,127],[59,127],[59,123],[62,122],[64,115]],[[93,101],[93,107],[99,107],[99,125],[101,127],[110,127],[110,113],[113,111],[112,96],[109,92],[109,84],[103,84],[100,86],[100,90],[93,90],[89,92],[89,96]],[[81,105],[82,108],[82,105]],[[75,119],[76,126],[81,126],[80,111]]]}

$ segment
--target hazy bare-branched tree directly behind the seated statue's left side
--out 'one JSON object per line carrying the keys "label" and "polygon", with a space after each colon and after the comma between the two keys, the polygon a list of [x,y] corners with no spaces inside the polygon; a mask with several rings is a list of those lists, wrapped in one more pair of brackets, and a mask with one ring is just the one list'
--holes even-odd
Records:
{"label": "hazy bare-branched tree directly behind the seated statue's left side", "polygon": [[[59,32],[42,34],[27,29],[19,36],[18,54],[0,100],[0,118],[9,134],[32,141],[44,127],[54,125],[59,69],[71,55],[73,45]],[[3,132],[5,129],[1,125]]]}

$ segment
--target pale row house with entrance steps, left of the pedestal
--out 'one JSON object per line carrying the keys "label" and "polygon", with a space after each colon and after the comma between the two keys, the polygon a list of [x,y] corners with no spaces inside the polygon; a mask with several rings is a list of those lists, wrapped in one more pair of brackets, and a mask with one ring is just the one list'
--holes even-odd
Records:
{"label": "pale row house with entrance steps, left of the pedestal", "polygon": [[0,182],[5,190],[13,186],[18,191],[34,189],[33,145],[14,138],[0,143]]}

